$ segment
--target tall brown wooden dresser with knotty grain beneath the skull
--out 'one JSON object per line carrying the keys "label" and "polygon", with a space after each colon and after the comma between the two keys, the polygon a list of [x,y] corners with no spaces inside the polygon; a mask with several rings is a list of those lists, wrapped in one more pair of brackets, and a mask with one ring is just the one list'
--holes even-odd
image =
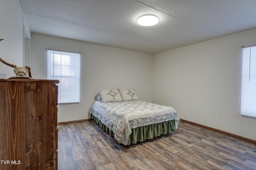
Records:
{"label": "tall brown wooden dresser with knotty grain beneath the skull", "polygon": [[57,83],[0,79],[0,170],[58,169]]}

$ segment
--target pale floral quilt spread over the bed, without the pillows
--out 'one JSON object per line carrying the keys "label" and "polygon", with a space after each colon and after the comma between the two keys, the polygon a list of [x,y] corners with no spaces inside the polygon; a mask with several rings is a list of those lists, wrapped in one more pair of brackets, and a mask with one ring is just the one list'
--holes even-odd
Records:
{"label": "pale floral quilt spread over the bed, without the pillows", "polygon": [[98,118],[114,132],[114,138],[124,144],[132,133],[132,128],[175,120],[176,128],[180,121],[172,107],[141,100],[102,103],[94,101],[90,114]]}

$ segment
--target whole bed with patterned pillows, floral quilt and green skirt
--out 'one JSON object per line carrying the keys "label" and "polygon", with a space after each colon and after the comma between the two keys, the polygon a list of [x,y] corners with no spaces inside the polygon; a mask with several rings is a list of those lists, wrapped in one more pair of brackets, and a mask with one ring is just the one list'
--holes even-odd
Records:
{"label": "whole bed with patterned pillows, floral quilt and green skirt", "polygon": [[101,90],[89,113],[124,145],[168,134],[177,129],[180,121],[174,108],[142,101],[135,90]]}

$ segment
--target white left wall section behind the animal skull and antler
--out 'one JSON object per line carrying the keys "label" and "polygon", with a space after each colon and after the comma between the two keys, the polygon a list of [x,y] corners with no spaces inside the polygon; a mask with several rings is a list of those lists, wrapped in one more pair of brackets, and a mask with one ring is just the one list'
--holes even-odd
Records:
{"label": "white left wall section behind the animal skull and antler", "polygon": [[[24,18],[18,0],[0,2],[0,57],[10,64],[22,66]],[[28,28],[29,30],[29,28]],[[29,34],[29,32],[28,32]],[[0,79],[16,76],[13,68],[0,62]]]}

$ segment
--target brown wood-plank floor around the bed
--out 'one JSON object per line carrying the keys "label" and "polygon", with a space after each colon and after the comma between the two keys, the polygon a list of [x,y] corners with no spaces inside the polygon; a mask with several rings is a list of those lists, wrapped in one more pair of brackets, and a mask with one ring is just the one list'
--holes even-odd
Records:
{"label": "brown wood-plank floor around the bed", "polygon": [[256,144],[180,122],[167,135],[120,145],[94,121],[59,125],[59,170],[256,170]]}

